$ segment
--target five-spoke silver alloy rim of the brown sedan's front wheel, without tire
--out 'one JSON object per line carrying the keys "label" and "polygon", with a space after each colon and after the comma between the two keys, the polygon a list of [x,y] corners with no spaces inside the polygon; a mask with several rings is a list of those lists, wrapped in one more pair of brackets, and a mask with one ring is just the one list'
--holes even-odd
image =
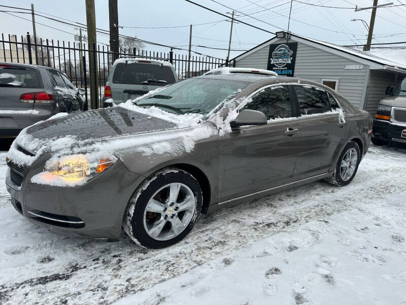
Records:
{"label": "five-spoke silver alloy rim of the brown sedan's front wheel, without tire", "polygon": [[155,240],[168,240],[182,233],[196,208],[192,190],[179,182],[160,188],[144,211],[144,228]]}

